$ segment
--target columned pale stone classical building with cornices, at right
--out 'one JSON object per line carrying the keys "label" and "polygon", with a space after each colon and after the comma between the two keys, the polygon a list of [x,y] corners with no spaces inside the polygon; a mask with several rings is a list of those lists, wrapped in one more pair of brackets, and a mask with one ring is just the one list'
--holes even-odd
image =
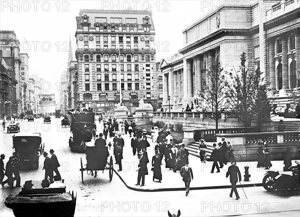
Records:
{"label": "columned pale stone classical building with cornices, at right", "polygon": [[[300,69],[300,1],[263,1],[263,43],[259,46],[259,4],[223,5],[190,24],[183,33],[183,48],[161,60],[164,94],[174,109],[185,107],[203,90],[210,67],[219,62],[224,70],[238,68],[246,53],[250,69],[259,67],[263,52],[266,81],[284,96],[296,87]],[[297,67],[298,66],[298,67]],[[298,70],[299,71],[299,70]]]}

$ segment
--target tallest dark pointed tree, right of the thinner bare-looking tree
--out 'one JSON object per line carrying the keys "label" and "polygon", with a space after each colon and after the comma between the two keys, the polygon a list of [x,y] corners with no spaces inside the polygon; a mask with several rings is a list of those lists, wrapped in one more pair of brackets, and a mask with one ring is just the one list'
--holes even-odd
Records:
{"label": "tallest dark pointed tree, right of the thinner bare-looking tree", "polygon": [[249,70],[246,63],[246,54],[240,55],[239,70],[229,72],[228,96],[230,97],[231,112],[245,127],[255,118],[255,103],[260,81],[260,72]]}

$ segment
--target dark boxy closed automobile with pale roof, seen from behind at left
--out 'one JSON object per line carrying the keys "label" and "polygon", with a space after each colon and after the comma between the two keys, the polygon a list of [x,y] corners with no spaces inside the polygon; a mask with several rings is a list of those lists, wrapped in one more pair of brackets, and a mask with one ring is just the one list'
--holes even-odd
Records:
{"label": "dark boxy closed automobile with pale roof, seen from behind at left", "polygon": [[38,168],[38,159],[44,150],[40,133],[18,133],[12,136],[12,148],[18,156],[21,170]]}

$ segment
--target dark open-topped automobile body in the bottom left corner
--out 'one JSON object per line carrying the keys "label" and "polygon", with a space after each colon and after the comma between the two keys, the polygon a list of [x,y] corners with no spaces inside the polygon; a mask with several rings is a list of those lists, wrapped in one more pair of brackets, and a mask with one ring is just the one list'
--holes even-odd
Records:
{"label": "dark open-topped automobile body in the bottom left corner", "polygon": [[15,216],[74,216],[76,191],[32,188],[30,194],[7,196],[4,204]]}

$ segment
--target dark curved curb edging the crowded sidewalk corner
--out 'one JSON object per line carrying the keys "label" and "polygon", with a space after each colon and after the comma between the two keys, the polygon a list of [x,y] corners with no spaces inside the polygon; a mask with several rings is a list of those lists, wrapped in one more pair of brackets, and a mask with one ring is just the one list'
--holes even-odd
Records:
{"label": "dark curved curb edging the crowded sidewalk corner", "polygon": [[[115,169],[113,169],[113,171],[117,174],[117,176],[121,179],[121,181],[125,184],[125,186],[130,190],[144,191],[144,192],[185,190],[185,187],[170,187],[170,188],[156,188],[156,189],[145,189],[145,188],[140,188],[140,187],[131,187],[131,186],[126,184],[124,179],[121,177],[120,174],[118,174],[117,171],[115,171]],[[182,183],[182,185],[183,185],[183,183]],[[257,187],[257,186],[262,186],[262,183],[236,185],[236,187]],[[204,189],[220,189],[220,188],[231,188],[231,185],[190,187],[189,189],[190,190],[204,190]]]}

